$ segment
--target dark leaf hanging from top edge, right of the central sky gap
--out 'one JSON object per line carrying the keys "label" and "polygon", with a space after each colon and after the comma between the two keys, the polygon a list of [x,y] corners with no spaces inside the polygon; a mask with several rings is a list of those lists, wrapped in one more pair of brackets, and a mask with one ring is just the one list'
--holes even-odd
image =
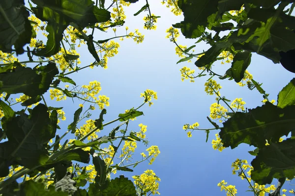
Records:
{"label": "dark leaf hanging from top edge, right of the central sky gap", "polygon": [[218,11],[218,0],[178,0],[184,20],[174,25],[181,28],[185,38],[197,38],[207,26],[207,17]]}

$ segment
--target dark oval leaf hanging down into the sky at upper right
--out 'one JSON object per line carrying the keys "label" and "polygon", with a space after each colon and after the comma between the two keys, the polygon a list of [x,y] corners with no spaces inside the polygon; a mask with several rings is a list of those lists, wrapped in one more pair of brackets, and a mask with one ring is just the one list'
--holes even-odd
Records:
{"label": "dark oval leaf hanging down into the sky at upper right", "polygon": [[238,52],[232,62],[232,77],[235,79],[235,82],[240,82],[243,77],[246,69],[251,63],[251,52],[243,51]]}

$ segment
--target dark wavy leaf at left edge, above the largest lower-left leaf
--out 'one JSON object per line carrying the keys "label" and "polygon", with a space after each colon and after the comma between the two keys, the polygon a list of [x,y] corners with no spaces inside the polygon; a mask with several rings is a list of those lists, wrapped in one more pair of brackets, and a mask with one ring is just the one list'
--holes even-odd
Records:
{"label": "dark wavy leaf at left edge, above the largest lower-left leaf", "polygon": [[0,93],[24,93],[30,97],[42,95],[47,92],[58,73],[55,63],[46,65],[39,74],[31,68],[17,67],[14,72],[0,73],[0,81],[3,83]]}

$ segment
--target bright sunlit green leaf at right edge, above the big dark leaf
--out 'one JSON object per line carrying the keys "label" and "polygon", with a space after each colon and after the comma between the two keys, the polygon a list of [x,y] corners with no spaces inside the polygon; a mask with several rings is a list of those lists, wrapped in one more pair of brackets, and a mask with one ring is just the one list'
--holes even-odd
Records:
{"label": "bright sunlit green leaf at right edge, above the big dark leaf", "polygon": [[293,78],[278,95],[277,106],[284,108],[288,105],[295,105],[295,78]]}

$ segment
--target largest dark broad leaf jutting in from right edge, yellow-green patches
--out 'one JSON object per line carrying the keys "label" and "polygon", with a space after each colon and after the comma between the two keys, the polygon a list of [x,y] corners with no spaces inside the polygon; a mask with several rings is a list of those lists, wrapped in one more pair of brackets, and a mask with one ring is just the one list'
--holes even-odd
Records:
{"label": "largest dark broad leaf jutting in from right edge, yellow-green patches", "polygon": [[219,133],[224,147],[235,148],[241,143],[255,147],[265,147],[268,142],[277,142],[287,136],[295,126],[295,106],[283,109],[266,102],[265,105],[250,109],[249,112],[236,112],[223,123]]}

